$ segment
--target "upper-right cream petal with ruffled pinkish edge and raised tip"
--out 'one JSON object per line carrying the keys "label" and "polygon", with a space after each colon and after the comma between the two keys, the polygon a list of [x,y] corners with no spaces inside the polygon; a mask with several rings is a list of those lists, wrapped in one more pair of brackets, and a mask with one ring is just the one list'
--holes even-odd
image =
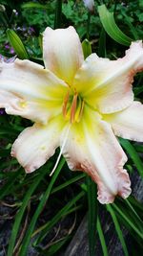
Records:
{"label": "upper-right cream petal with ruffled pinkish edge and raised tip", "polygon": [[73,85],[89,105],[112,113],[133,103],[133,76],[141,70],[143,47],[136,41],[124,58],[110,60],[92,54],[77,71]]}

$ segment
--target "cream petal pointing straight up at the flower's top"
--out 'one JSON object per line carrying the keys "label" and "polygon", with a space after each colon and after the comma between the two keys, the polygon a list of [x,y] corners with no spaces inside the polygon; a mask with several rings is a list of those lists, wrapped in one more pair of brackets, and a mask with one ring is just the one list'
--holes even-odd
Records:
{"label": "cream petal pointing straight up at the flower's top", "polygon": [[51,72],[72,85],[73,77],[84,59],[79,36],[74,28],[47,28],[43,38],[43,58]]}

